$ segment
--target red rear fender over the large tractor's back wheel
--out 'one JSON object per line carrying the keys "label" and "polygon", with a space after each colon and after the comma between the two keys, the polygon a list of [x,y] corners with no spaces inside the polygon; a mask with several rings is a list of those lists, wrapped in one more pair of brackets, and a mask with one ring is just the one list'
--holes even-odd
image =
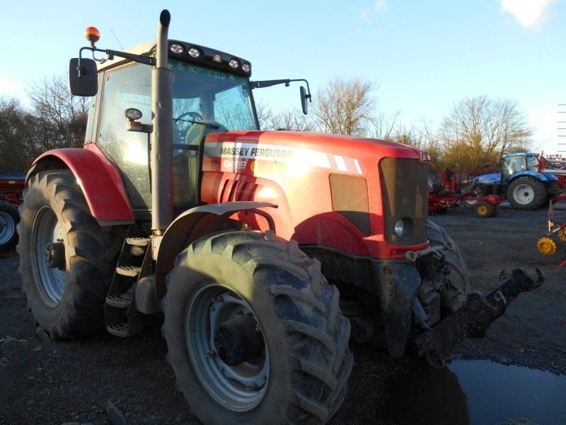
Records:
{"label": "red rear fender over the large tractor's back wheel", "polygon": [[[67,148],[45,152],[35,159],[26,183],[31,176],[51,169],[69,169],[100,226],[129,225],[134,222],[132,207],[120,174],[98,147]],[[89,146],[89,145],[87,145]]]}

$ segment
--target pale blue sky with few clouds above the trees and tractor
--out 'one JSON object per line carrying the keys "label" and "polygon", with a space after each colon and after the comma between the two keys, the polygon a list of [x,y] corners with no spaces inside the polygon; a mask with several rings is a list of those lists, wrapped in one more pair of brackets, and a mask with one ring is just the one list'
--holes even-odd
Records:
{"label": "pale blue sky with few clouds above the trees and tractor", "polygon": [[[336,77],[371,81],[380,113],[432,128],[466,98],[515,101],[533,151],[566,154],[566,0],[0,2],[4,98],[25,101],[34,82],[66,74],[87,26],[97,47],[121,50],[154,39],[168,8],[170,38],[250,60],[252,79],[308,79],[315,95]],[[299,108],[298,87],[255,100]]]}

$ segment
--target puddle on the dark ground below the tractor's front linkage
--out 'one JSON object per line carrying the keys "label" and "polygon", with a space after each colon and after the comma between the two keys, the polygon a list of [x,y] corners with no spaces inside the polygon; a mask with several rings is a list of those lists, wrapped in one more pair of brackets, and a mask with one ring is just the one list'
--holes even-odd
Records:
{"label": "puddle on the dark ground below the tractor's front linkage", "polygon": [[490,361],[423,366],[386,382],[395,424],[566,424],[566,375]]}

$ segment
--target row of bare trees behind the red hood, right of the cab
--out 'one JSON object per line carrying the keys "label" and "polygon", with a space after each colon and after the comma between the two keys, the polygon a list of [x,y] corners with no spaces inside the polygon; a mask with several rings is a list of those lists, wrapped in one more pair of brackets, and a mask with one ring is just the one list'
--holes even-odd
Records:
{"label": "row of bare trees behind the red hood, right of the cab", "polygon": [[399,114],[379,113],[374,86],[361,79],[333,79],[313,95],[312,113],[273,113],[259,107],[264,129],[332,132],[393,140],[426,149],[439,168],[478,170],[495,166],[505,152],[529,150],[532,128],[519,105],[487,96],[454,103],[437,128],[427,121],[405,124]]}

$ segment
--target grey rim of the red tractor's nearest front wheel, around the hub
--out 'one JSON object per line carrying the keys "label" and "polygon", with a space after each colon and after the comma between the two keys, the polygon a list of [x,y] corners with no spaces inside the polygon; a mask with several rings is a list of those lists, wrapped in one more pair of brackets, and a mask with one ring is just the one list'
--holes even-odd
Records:
{"label": "grey rim of the red tractor's nearest front wheel, around the hub", "polygon": [[262,340],[265,337],[250,305],[233,290],[209,283],[195,293],[185,315],[185,342],[195,373],[216,402],[235,412],[257,406],[267,389],[270,373],[269,352],[239,365],[225,363],[214,346],[214,331],[222,322],[246,314],[255,319]]}

